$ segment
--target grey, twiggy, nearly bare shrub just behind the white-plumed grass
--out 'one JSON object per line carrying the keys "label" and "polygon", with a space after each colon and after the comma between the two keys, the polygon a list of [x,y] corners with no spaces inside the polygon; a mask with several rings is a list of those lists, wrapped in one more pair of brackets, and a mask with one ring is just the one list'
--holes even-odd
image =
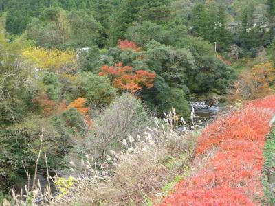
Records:
{"label": "grey, twiggy, nearly bare shrub just behind the white-plumed grass", "polygon": [[152,123],[153,119],[148,116],[140,100],[124,93],[94,119],[94,137],[88,140],[87,145],[96,148],[96,156],[104,159],[108,150],[123,148],[122,139],[130,135],[136,137]]}

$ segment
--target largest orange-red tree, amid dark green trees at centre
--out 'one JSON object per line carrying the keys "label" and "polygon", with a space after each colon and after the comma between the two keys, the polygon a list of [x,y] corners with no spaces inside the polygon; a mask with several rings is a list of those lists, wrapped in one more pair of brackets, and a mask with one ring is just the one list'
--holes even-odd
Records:
{"label": "largest orange-red tree, amid dark green trees at centre", "polygon": [[140,91],[142,87],[152,88],[153,81],[156,76],[155,72],[137,70],[133,71],[133,67],[124,66],[122,62],[115,65],[115,67],[109,67],[104,65],[101,67],[100,76],[108,76],[113,84],[122,91],[129,91],[134,94]]}

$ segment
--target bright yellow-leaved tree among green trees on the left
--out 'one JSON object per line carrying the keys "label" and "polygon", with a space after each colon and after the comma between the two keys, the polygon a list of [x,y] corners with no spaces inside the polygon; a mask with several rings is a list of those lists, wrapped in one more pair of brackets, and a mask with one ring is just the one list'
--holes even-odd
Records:
{"label": "bright yellow-leaved tree among green trees on the left", "polygon": [[71,70],[76,65],[76,53],[58,49],[30,47],[24,49],[22,55],[34,63],[39,69],[49,71]]}

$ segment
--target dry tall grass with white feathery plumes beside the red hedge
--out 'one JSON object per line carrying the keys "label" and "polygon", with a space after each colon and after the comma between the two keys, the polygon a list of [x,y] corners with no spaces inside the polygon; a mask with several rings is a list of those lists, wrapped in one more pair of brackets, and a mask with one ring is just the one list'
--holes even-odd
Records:
{"label": "dry tall grass with white feathery plumes beside the red hedge", "polygon": [[[147,205],[153,196],[161,199],[166,194],[162,188],[175,181],[192,161],[197,138],[197,132],[188,130],[175,109],[165,116],[163,121],[155,119],[155,127],[144,128],[142,135],[121,139],[122,150],[109,150],[106,159],[96,165],[94,157],[86,155],[80,163],[83,172],[61,195],[43,196],[38,188],[29,196],[14,194],[14,203],[28,205],[39,200],[44,205]],[[185,132],[177,133],[176,125],[186,128]],[[74,165],[72,162],[72,170]]]}

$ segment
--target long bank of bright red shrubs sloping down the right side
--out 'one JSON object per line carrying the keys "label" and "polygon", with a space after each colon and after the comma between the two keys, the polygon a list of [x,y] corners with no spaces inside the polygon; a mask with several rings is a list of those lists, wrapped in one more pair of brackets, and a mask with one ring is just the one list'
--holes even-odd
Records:
{"label": "long bank of bright red shrubs sloping down the right side", "polygon": [[192,174],[161,205],[261,205],[263,148],[275,96],[219,117],[199,137]]}

